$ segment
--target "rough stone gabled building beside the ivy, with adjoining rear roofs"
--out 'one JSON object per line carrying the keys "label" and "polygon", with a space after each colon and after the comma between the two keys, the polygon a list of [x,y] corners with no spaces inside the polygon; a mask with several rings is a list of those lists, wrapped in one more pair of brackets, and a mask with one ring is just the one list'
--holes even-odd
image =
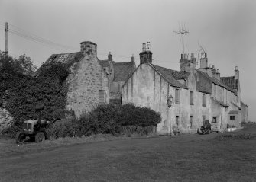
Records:
{"label": "rough stone gabled building beside the ivy, with adjoining rear roofs", "polygon": [[[80,46],[79,52],[53,54],[44,62],[60,62],[69,68],[66,109],[73,110],[76,117],[97,104],[121,103],[122,85],[136,68],[134,56],[131,62],[114,62],[109,53],[108,59],[99,60],[96,43],[85,41]],[[40,69],[34,76],[38,74]]]}

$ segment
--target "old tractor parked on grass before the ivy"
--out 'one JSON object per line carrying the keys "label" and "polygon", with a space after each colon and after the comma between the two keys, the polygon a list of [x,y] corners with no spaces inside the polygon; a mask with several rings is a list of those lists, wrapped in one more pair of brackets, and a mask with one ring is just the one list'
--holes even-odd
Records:
{"label": "old tractor parked on grass before the ivy", "polygon": [[44,106],[37,106],[35,110],[39,113],[38,120],[24,121],[23,129],[16,134],[17,143],[24,143],[28,139],[34,139],[35,142],[44,142],[45,139],[48,139],[47,126],[60,120],[60,118],[52,121],[41,120],[41,110],[44,110]]}

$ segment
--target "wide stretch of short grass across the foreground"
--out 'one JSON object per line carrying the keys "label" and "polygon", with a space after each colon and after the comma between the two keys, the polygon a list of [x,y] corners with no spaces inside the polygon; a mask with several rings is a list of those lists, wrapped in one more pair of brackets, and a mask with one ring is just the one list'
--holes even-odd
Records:
{"label": "wide stretch of short grass across the foreground", "polygon": [[234,134],[241,133],[252,138],[211,133],[24,148],[0,141],[0,181],[256,181],[256,125]]}

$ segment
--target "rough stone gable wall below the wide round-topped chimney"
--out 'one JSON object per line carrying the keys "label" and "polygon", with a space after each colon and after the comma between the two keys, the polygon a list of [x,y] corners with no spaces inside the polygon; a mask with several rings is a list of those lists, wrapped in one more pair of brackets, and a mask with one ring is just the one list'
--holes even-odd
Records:
{"label": "rough stone gable wall below the wide round-topped chimney", "polygon": [[[86,51],[88,52],[87,49]],[[82,60],[70,68],[73,73],[66,79],[66,108],[74,110],[76,117],[93,110],[99,104],[99,91],[105,91],[106,102],[109,102],[109,84],[105,72],[102,71],[93,49],[92,53],[87,52]]]}

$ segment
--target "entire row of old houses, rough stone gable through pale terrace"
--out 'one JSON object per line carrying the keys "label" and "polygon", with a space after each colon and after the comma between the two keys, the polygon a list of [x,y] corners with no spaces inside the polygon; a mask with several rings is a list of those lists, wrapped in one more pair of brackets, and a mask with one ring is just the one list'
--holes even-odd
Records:
{"label": "entire row of old houses, rough stone gable through pale terrace", "polygon": [[[134,103],[160,112],[157,132],[163,134],[173,130],[196,133],[203,120],[209,120],[215,131],[226,129],[227,124],[239,127],[242,121],[248,122],[237,67],[234,75],[220,77],[219,69],[208,65],[207,53],[201,57],[199,68],[193,53],[190,59],[182,54],[180,70],[176,71],[153,64],[152,53],[145,47],[136,68],[134,56],[131,62],[114,62],[109,53],[108,59],[99,60],[96,43],[80,45],[79,52],[53,54],[44,63],[68,65],[66,109],[77,117],[97,104]],[[169,108],[170,97],[173,102]]]}

